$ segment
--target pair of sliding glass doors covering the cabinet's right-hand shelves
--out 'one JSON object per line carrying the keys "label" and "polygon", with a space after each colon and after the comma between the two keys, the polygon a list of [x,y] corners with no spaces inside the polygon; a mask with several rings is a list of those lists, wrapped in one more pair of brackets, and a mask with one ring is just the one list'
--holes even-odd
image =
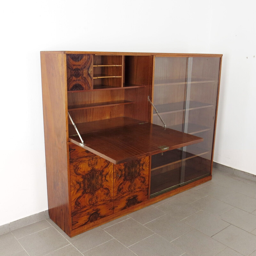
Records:
{"label": "pair of sliding glass doors covering the cabinet's right-hand shelves", "polygon": [[[219,70],[217,57],[155,57],[152,100],[166,127],[204,141],[151,157],[151,197],[210,175]],[[163,125],[155,111],[152,123]]]}

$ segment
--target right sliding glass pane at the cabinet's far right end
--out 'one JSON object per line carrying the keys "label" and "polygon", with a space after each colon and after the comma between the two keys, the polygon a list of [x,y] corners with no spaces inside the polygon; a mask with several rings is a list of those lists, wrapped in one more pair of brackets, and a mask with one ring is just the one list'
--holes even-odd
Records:
{"label": "right sliding glass pane at the cabinet's far right end", "polygon": [[204,141],[183,148],[181,183],[211,172],[219,68],[220,58],[189,58],[184,132]]}

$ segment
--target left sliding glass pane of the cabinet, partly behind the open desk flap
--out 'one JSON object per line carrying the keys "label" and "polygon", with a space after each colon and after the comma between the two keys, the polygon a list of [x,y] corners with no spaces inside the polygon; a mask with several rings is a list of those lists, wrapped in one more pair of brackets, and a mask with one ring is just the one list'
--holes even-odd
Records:
{"label": "left sliding glass pane of the cabinet, partly behind the open desk flap", "polygon": [[[167,128],[184,129],[188,58],[156,57],[154,98],[159,115]],[[163,126],[156,112],[153,124]],[[152,156],[150,195],[180,184],[182,150],[175,149]]]}

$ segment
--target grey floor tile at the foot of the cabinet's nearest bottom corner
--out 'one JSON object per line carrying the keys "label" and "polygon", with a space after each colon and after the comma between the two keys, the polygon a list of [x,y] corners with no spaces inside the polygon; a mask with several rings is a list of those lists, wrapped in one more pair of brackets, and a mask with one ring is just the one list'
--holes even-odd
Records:
{"label": "grey floor tile at the foot of the cabinet's nearest bottom corner", "polygon": [[100,244],[112,240],[113,237],[105,232],[102,228],[93,228],[80,235],[67,237],[68,241],[73,244],[80,252],[85,252]]}

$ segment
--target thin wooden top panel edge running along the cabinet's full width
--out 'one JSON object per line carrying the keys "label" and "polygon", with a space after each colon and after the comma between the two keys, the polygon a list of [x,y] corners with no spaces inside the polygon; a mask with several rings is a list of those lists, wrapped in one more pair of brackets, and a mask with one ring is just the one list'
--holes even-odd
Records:
{"label": "thin wooden top panel edge running along the cabinet's full width", "polygon": [[222,54],[204,53],[153,53],[153,52],[79,52],[79,51],[42,51],[41,54],[99,54],[99,55],[156,55],[170,57],[221,57]]}

